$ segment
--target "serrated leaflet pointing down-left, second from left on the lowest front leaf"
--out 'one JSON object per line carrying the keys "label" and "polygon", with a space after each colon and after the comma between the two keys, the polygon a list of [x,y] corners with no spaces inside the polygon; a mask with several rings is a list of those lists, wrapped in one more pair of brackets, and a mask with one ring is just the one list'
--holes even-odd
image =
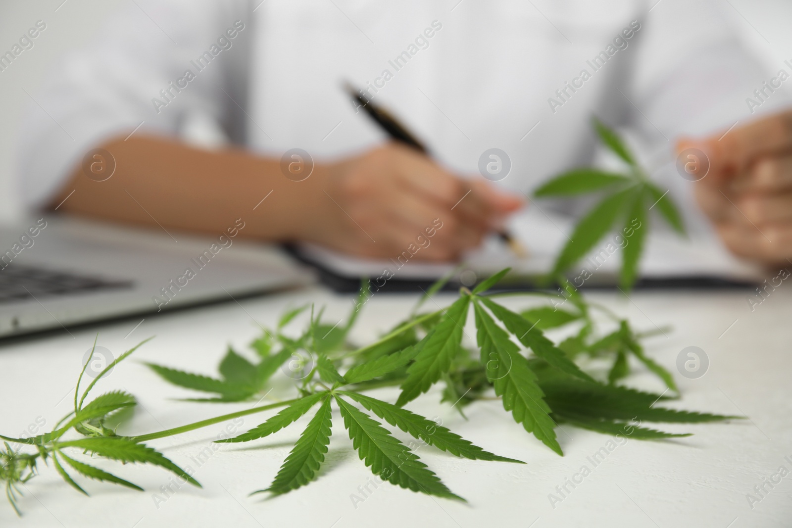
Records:
{"label": "serrated leaflet pointing down-left, second from left on the lowest front leaf", "polygon": [[322,406],[299,436],[275,480],[269,488],[261,491],[286,493],[314,480],[319,466],[325,462],[332,426],[330,416],[330,398],[325,394]]}

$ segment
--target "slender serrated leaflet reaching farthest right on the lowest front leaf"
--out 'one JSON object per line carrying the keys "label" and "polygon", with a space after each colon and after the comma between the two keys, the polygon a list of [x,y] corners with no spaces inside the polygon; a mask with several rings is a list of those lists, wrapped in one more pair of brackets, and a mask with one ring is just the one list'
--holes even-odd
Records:
{"label": "slender serrated leaflet reaching farthest right on the lowest front leaf", "polygon": [[425,417],[410,412],[406,408],[397,407],[386,401],[377,400],[360,393],[342,392],[342,394],[357,401],[388,424],[394,425],[412,435],[414,439],[423,440],[430,446],[435,446],[457,457],[470,458],[471,460],[525,463],[513,458],[499,457],[497,454],[489,453],[489,451],[485,451],[461,436],[452,433],[447,427],[438,425],[432,420],[427,420]]}

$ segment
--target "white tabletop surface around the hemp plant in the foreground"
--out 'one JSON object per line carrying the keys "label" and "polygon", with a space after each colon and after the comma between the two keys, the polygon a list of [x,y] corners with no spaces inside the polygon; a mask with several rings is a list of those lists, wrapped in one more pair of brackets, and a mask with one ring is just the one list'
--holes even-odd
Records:
{"label": "white tabletop surface around the hemp plant in the foreground", "polygon": [[[630,317],[638,329],[673,325],[668,337],[654,337],[647,343],[653,357],[671,370],[682,348],[695,345],[706,351],[710,358],[706,375],[693,380],[676,376],[683,399],[673,405],[744,413],[751,420],[660,424],[666,431],[695,435],[662,442],[628,440],[553,507],[548,495],[581,465],[591,467],[586,458],[605,446],[607,435],[568,426],[559,429],[565,451],[562,458],[527,435],[505,414],[500,402],[471,405],[466,410],[470,421],[465,421],[449,405],[440,405],[435,391],[409,408],[428,417],[440,416],[444,425],[466,439],[527,465],[469,461],[424,447],[420,450],[424,462],[468,503],[380,484],[379,488],[369,485],[371,494],[353,504],[351,495],[362,498],[358,487],[373,476],[352,451],[341,418],[334,412],[333,438],[320,477],[286,496],[248,497],[248,493],[272,481],[301,431],[300,424],[253,443],[221,446],[195,473],[203,489],[185,485],[158,505],[154,493],[171,481],[162,469],[101,464],[114,473],[117,469],[121,477],[146,492],[82,479],[91,493],[85,497],[64,484],[53,468],[42,467],[42,474],[25,486],[20,501],[24,517],[17,519],[10,506],[0,503],[0,526],[792,526],[792,474],[753,508],[746,499],[754,486],[763,484],[780,466],[792,470],[785,459],[792,460],[792,287],[784,284],[754,312],[748,308],[745,292],[637,293],[631,301],[621,294],[592,297]],[[440,295],[437,302],[450,299]],[[173,401],[192,394],[169,386],[141,362],[212,374],[227,344],[246,348],[257,335],[251,317],[273,325],[284,307],[309,300],[327,304],[328,320],[344,317],[352,304],[351,297],[314,288],[147,319],[130,336],[138,320],[72,330],[73,336],[60,332],[3,345],[0,431],[16,435],[39,416],[49,428],[68,412],[82,356],[97,331],[99,344],[116,355],[156,335],[97,386],[100,391],[127,389],[139,397],[140,408],[126,432],[158,431],[245,408],[249,404]],[[367,303],[353,337],[374,338],[406,315],[414,300],[412,295],[375,296]],[[656,379],[642,373],[628,382],[662,390]],[[395,397],[395,391],[389,390],[379,396]],[[273,412],[246,416],[243,427],[253,427]],[[225,426],[217,424],[150,445],[179,465],[191,465],[191,457]]]}

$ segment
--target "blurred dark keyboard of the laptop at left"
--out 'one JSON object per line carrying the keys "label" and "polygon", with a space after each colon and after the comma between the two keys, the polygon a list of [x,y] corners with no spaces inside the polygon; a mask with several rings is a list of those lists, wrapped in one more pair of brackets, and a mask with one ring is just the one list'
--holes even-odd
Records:
{"label": "blurred dark keyboard of the laptop at left", "polygon": [[30,297],[40,300],[54,295],[90,293],[131,286],[131,280],[100,279],[91,275],[56,272],[17,264],[0,269],[0,303]]}

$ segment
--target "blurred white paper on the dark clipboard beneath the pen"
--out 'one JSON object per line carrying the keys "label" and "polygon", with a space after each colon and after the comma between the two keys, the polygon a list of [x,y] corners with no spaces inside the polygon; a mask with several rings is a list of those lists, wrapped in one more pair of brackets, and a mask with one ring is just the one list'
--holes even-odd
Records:
{"label": "blurred white paper on the dark clipboard beneath the pen", "polygon": [[[555,256],[573,232],[573,225],[570,218],[553,215],[538,207],[527,208],[512,217],[508,224],[512,236],[527,249],[527,258],[518,258],[503,241],[493,236],[485,240],[481,248],[466,255],[464,268],[472,270],[478,277],[507,267],[519,275],[541,275],[552,268]],[[630,243],[629,238],[617,236],[616,232],[608,234],[572,268],[570,276],[581,276],[578,282],[615,283],[616,273],[622,264],[620,246]],[[373,278],[387,270],[393,279],[438,279],[458,265],[422,262],[420,251],[409,260],[404,257],[401,260],[371,260],[347,256],[320,245],[301,246],[301,253],[308,259],[346,278]],[[640,275],[653,279],[706,276],[745,281],[760,278],[762,272],[737,260],[710,237],[691,235],[686,238],[665,230],[653,230],[645,243]]]}

